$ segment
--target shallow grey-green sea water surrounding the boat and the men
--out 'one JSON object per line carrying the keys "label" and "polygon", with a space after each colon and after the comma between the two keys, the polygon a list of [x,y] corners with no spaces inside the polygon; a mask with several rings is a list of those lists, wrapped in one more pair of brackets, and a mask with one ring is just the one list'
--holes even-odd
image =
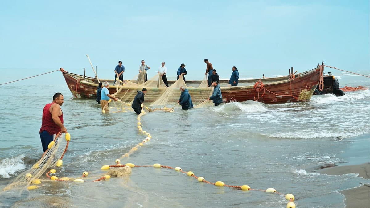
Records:
{"label": "shallow grey-green sea water surrounding the boat and the men", "polygon": [[[368,78],[334,75],[341,87],[369,87]],[[138,134],[137,115],[102,114],[95,100],[73,98],[60,73],[0,85],[1,189],[41,157],[42,111],[56,92],[64,94],[71,142],[55,175],[78,178],[88,171],[87,182],[51,182],[43,175],[43,187],[1,192],[0,207],[286,207],[282,195],[216,187],[165,168],[134,167],[129,177],[91,182],[105,174],[102,165],[114,164],[145,137]],[[272,187],[295,195],[297,207],[344,207],[339,191],[369,180],[315,170],[369,162],[369,99],[370,91],[360,90],[314,95],[305,103],[246,101],[188,111],[175,106],[174,113],[141,117],[152,139],[121,163],[160,163],[210,182]],[[361,155],[351,152],[353,146],[363,147]]]}

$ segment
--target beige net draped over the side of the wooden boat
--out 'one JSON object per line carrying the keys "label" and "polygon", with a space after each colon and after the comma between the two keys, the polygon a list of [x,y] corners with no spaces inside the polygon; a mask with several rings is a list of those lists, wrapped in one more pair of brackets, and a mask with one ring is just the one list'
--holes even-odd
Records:
{"label": "beige net draped over the side of the wooden boat", "polygon": [[[208,87],[208,82],[206,77],[202,80],[198,87],[188,87],[182,76],[175,81],[174,84],[167,87],[161,77],[161,74],[157,73],[154,77],[145,81],[146,72],[141,72],[137,74],[131,80],[115,82],[116,92],[112,96],[118,98],[118,101],[111,101],[109,108],[114,108],[113,113],[132,111],[131,104],[134,100],[135,95],[138,90],[142,88],[147,88],[147,94],[145,94],[144,104],[151,107],[163,107],[165,105],[177,106],[177,100],[181,95],[180,87],[192,88],[190,95],[195,108],[211,106],[212,100],[207,101],[206,99],[212,95],[213,87]],[[121,93],[122,92],[122,93]],[[124,92],[124,93],[123,93]],[[122,95],[123,94],[123,95]],[[118,96],[122,95],[122,96]],[[150,98],[150,99],[147,99]],[[148,101],[150,100],[150,101]],[[157,110],[165,109],[156,108]],[[108,105],[104,107],[105,111],[108,111]],[[147,109],[148,110],[148,109]],[[150,111],[150,109],[149,109]]]}

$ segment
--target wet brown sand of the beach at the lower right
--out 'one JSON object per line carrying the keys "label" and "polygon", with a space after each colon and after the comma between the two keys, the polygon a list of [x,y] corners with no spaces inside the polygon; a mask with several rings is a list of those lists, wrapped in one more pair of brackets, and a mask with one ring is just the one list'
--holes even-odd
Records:
{"label": "wet brown sand of the beach at the lower right", "polygon": [[[319,172],[328,175],[343,175],[349,173],[358,173],[359,177],[369,179],[370,174],[370,163],[364,163],[360,165],[347,165],[347,166],[337,166],[331,168],[324,168]],[[361,184],[359,184],[361,185]],[[363,184],[359,188],[352,188],[348,190],[341,191],[342,194],[346,196],[347,208],[351,207],[370,207],[370,188],[369,183]]]}

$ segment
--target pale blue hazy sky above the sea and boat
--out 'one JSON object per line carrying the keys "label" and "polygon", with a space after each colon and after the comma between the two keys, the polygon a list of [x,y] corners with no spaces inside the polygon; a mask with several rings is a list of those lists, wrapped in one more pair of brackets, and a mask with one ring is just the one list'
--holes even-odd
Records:
{"label": "pale blue hazy sky above the sea and boat", "polygon": [[[0,81],[57,70],[114,78],[148,77],[165,61],[168,77],[186,64],[202,79],[205,58],[221,78],[288,75],[326,65],[370,68],[369,0],[1,1]],[[30,70],[24,70],[30,69]],[[369,74],[369,73],[368,73]]]}

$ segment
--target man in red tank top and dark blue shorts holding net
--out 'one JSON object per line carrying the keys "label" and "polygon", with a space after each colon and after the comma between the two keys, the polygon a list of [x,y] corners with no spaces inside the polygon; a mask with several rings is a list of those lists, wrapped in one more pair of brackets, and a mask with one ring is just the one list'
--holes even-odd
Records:
{"label": "man in red tank top and dark blue shorts holding net", "polygon": [[46,104],[44,107],[43,123],[40,128],[40,138],[44,152],[47,150],[49,143],[54,140],[54,134],[60,131],[67,133],[67,129],[63,125],[63,111],[60,108],[63,103],[63,95],[61,93],[55,93],[53,102]]}

